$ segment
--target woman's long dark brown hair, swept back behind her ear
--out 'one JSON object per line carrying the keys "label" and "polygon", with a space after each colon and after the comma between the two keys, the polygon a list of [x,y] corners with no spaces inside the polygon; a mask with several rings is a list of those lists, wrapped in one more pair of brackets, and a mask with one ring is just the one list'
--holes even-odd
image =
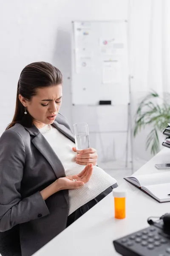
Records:
{"label": "woman's long dark brown hair, swept back behind her ear", "polygon": [[25,115],[25,107],[20,102],[19,94],[30,101],[37,93],[37,88],[62,84],[62,73],[48,62],[34,62],[27,65],[20,74],[17,87],[17,99],[14,117],[6,130],[20,123],[23,126],[31,127],[33,118],[28,113]]}

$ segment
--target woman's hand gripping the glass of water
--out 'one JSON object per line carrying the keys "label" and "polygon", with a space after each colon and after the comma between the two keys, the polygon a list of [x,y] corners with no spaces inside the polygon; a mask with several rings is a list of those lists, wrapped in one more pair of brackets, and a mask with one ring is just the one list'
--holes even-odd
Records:
{"label": "woman's hand gripping the glass of water", "polygon": [[[76,148],[73,148],[74,152],[77,152]],[[87,165],[92,163],[94,166],[97,163],[97,151],[94,148],[86,148],[79,151],[80,154],[76,155],[76,163],[81,165]]]}

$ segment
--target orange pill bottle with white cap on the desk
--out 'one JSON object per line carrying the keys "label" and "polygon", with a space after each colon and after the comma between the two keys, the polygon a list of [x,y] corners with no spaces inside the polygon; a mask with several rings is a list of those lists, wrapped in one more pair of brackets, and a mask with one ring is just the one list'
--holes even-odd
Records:
{"label": "orange pill bottle with white cap on the desk", "polygon": [[113,189],[115,218],[123,219],[126,217],[126,192]]}

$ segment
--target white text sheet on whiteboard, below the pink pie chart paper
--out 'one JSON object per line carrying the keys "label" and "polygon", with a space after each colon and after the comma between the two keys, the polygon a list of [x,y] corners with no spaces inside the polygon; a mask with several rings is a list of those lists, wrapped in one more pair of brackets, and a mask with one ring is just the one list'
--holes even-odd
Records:
{"label": "white text sheet on whiteboard, below the pink pie chart paper", "polygon": [[103,61],[103,84],[121,82],[121,65],[118,60]]}

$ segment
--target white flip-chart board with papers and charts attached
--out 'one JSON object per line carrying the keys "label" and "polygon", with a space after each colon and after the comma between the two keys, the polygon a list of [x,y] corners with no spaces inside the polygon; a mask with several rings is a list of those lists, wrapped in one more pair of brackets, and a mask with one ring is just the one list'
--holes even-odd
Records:
{"label": "white flip-chart board with papers and charts attached", "polygon": [[[125,20],[73,21],[71,92],[74,105],[129,103]],[[121,94],[121,97],[120,97]]]}

